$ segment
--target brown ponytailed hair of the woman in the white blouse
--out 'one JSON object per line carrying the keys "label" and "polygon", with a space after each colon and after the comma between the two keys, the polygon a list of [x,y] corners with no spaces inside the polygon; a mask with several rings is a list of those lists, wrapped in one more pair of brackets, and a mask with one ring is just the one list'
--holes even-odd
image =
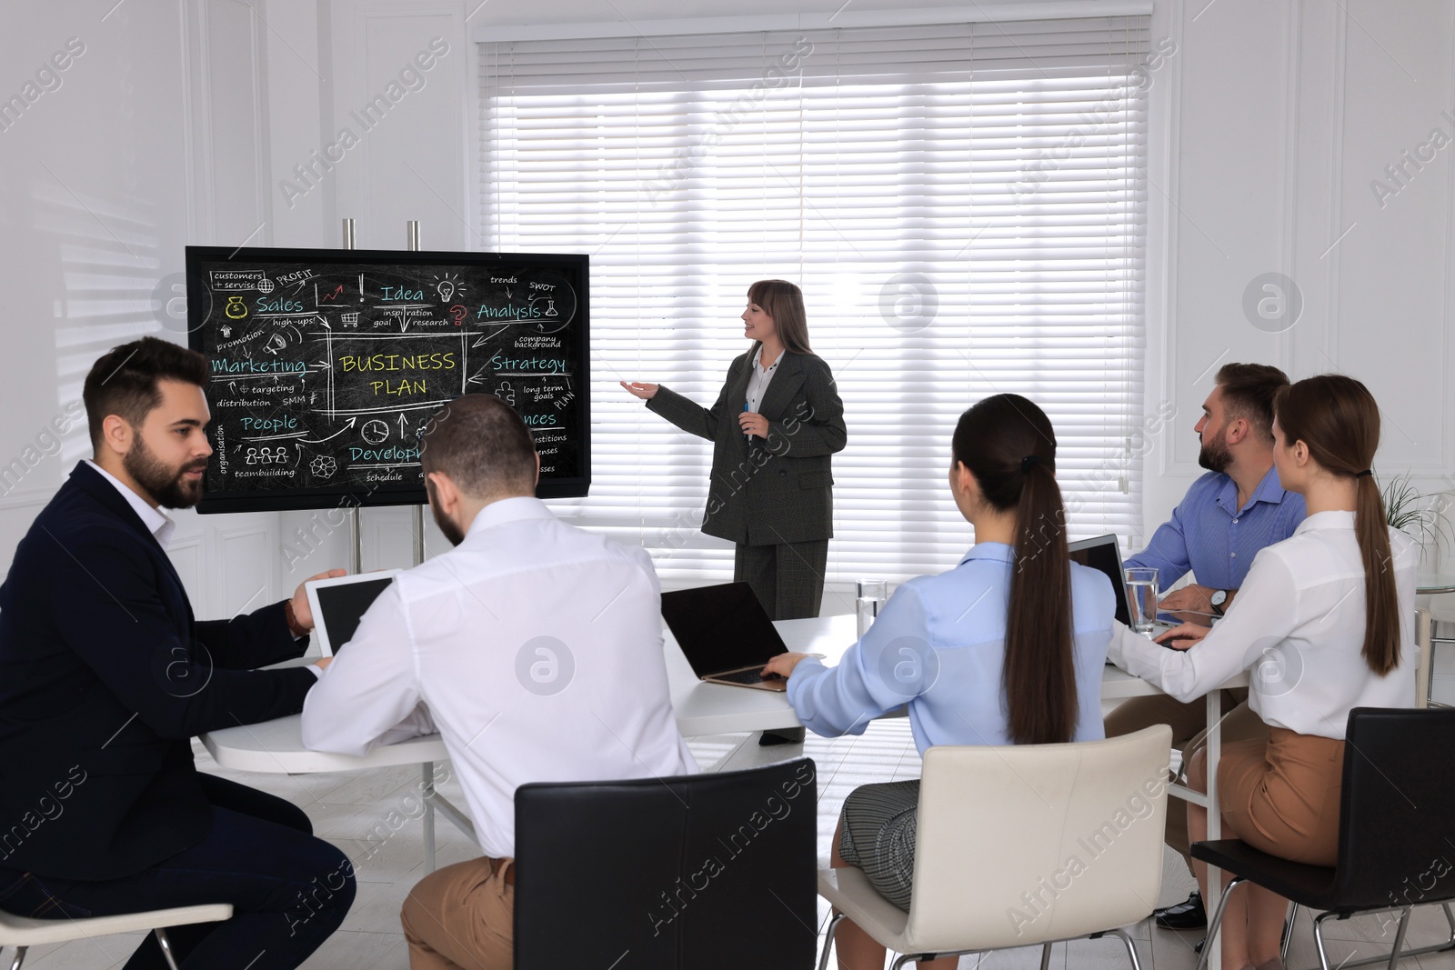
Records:
{"label": "brown ponytailed hair of the woman in the white blouse", "polygon": [[1355,537],[1365,567],[1363,659],[1384,676],[1400,665],[1400,605],[1379,484],[1359,474],[1379,448],[1379,406],[1352,377],[1320,374],[1280,390],[1273,414],[1285,442],[1304,442],[1324,471],[1355,478]]}

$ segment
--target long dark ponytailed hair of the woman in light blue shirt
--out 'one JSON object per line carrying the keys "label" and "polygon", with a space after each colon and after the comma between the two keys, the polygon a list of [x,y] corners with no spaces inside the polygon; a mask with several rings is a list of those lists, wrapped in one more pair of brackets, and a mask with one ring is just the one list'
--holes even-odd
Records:
{"label": "long dark ponytailed hair of the woman in light blue shirt", "polygon": [[1010,739],[1017,745],[1069,742],[1080,710],[1056,433],[1045,412],[1024,397],[997,394],[960,414],[953,451],[984,499],[998,512],[1016,513],[1004,663]]}

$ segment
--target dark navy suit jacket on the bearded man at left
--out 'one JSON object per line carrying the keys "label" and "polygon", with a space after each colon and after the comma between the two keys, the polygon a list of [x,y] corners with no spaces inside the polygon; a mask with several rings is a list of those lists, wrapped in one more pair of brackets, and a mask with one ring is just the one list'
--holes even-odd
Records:
{"label": "dark navy suit jacket on the bearded man at left", "polygon": [[191,737],[303,710],[282,604],[199,622],[162,545],[81,462],[0,586],[0,867],[129,875],[212,823]]}

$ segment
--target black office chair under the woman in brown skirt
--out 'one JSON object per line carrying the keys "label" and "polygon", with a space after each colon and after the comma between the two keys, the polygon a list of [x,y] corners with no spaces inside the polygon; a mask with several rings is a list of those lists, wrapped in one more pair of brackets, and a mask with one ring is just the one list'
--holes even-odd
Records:
{"label": "black office chair under the woman in brown skirt", "polygon": [[[1349,919],[1358,913],[1400,912],[1394,950],[1388,957],[1342,963],[1358,967],[1388,963],[1400,957],[1449,950],[1455,944],[1455,772],[1448,759],[1455,752],[1455,710],[1406,710],[1360,707],[1349,713],[1344,746],[1344,784],[1339,817],[1339,861],[1333,868],[1289,862],[1259,852],[1238,839],[1193,842],[1192,857],[1237,877],[1218,900],[1208,926],[1212,939],[1222,922],[1228,893],[1243,881],[1257,883],[1293,902],[1318,910],[1314,942],[1318,961],[1328,970],[1324,951],[1326,919]],[[1424,903],[1445,903],[1451,939],[1419,950],[1406,950],[1404,932],[1410,910]],[[1289,926],[1292,937],[1292,925]],[[1197,970],[1208,963],[1212,947],[1203,947]],[[1288,958],[1288,939],[1283,942]]]}

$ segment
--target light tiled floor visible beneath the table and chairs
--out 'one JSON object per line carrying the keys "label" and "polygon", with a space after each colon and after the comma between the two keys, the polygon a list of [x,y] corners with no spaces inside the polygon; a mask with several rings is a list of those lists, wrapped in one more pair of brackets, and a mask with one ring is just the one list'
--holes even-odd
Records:
{"label": "light tiled floor visible beneath the table and chairs", "polygon": [[[748,742],[748,743],[745,743]],[[803,746],[819,769],[819,858],[826,861],[829,839],[845,795],[870,781],[917,778],[920,758],[909,737],[905,720],[874,721],[861,737],[822,739],[810,736]],[[722,758],[733,768],[776,761],[787,755],[783,747],[758,747],[751,736],[701,737],[693,742],[701,765],[713,765]],[[355,861],[358,899],[343,928],[335,934],[304,966],[308,970],[403,970],[407,953],[399,929],[399,907],[404,894],[423,875],[423,835],[418,801],[419,769],[378,769],[367,774],[329,775],[249,775],[217,768],[207,752],[196,745],[198,765],[204,771],[234,778],[290,798],[304,807],[313,819],[314,830],[340,846]],[[441,791],[463,804],[460,787],[454,781]],[[396,830],[397,829],[397,830]],[[375,835],[370,838],[370,833]],[[388,833],[380,842],[378,833]],[[476,846],[442,819],[435,826],[436,859],[448,865],[477,855]],[[1167,854],[1163,868],[1163,893],[1158,905],[1184,899],[1192,889],[1192,877],[1180,858]],[[826,906],[819,902],[819,926],[826,921]],[[1439,941],[1445,919],[1439,907],[1416,912],[1408,945]],[[1145,970],[1193,970],[1197,958],[1192,951],[1200,932],[1170,932],[1144,921],[1132,929],[1138,954]],[[1331,923],[1326,937],[1331,961],[1374,955],[1392,942],[1392,926],[1381,932],[1379,918]],[[60,947],[36,947],[26,960],[35,970],[105,970],[121,967],[140,937],[103,937]],[[9,955],[9,951],[6,953]],[[1293,937],[1289,964],[1314,967],[1318,957],[1307,916],[1299,919]],[[832,964],[831,964],[832,966]],[[970,970],[1039,970],[1040,948],[1008,950],[984,957],[962,957],[960,969]],[[1126,970],[1126,953],[1116,939],[1056,944],[1051,970]],[[1406,970],[1455,970],[1455,953],[1442,953],[1401,961]],[[809,970],[809,969],[805,969]]]}

